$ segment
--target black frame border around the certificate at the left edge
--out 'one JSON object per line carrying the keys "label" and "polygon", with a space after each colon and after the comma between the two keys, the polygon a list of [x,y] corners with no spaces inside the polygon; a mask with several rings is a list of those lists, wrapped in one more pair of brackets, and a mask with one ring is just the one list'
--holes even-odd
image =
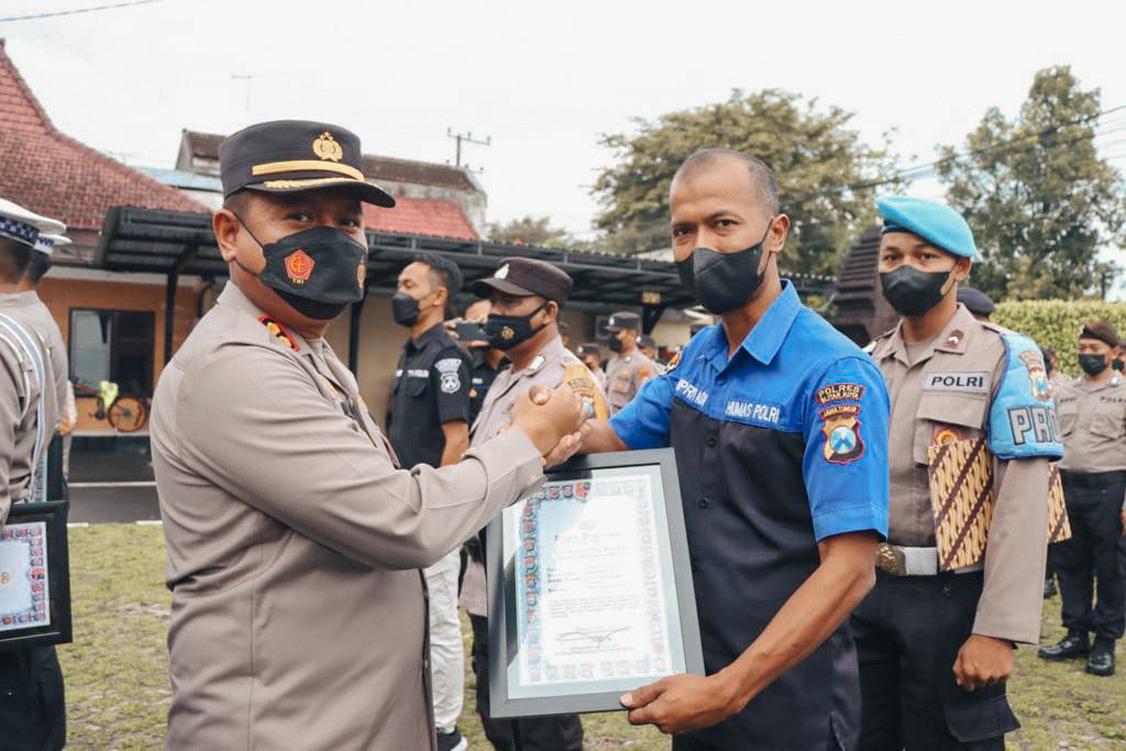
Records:
{"label": "black frame border around the certificate at the left edge", "polygon": [[27,529],[23,525],[45,522],[46,536],[46,604],[50,613],[47,625],[28,625],[0,631],[0,652],[26,650],[47,644],[66,644],[73,641],[71,631],[70,556],[66,547],[66,517],[70,501],[45,503],[14,503],[5,522],[5,530]]}

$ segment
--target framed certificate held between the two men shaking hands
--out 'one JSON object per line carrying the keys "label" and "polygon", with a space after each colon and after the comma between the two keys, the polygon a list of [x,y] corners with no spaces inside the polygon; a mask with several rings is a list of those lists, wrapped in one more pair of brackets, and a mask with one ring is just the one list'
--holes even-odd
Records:
{"label": "framed certificate held between the two men shaking hands", "polygon": [[704,674],[672,449],[582,456],[486,534],[493,717],[622,709]]}

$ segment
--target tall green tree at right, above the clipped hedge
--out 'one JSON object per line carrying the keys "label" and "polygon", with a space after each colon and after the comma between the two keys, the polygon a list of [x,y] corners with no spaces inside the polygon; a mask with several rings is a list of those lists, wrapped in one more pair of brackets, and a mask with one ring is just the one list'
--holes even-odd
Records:
{"label": "tall green tree at right, above the clipped hedge", "polygon": [[963,153],[940,149],[949,202],[974,230],[982,262],[972,284],[994,299],[1105,295],[1117,269],[1098,260],[1121,242],[1121,177],[1099,159],[1098,89],[1071,68],[1036,73],[1013,119],[990,109]]}

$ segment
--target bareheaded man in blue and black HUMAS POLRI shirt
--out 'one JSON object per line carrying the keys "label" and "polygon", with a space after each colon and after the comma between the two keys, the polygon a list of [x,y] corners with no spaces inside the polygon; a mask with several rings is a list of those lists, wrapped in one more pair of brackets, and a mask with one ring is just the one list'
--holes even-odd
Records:
{"label": "bareheaded man in blue and black HUMAS POLRI shirt", "polygon": [[707,150],[670,190],[683,284],[722,322],[586,452],[672,446],[707,677],[626,694],[673,749],[854,749],[856,652],[841,623],[887,527],[887,393],[873,361],[779,278],[789,230],[770,169]]}

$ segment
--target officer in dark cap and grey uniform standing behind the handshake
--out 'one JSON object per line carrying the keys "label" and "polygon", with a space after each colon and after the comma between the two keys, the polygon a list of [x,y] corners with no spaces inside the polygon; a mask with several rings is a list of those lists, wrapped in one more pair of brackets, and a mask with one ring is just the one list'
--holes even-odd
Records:
{"label": "officer in dark cap and grey uniform standing behind the handshake", "polygon": [[[502,350],[509,366],[497,376],[481,413],[473,423],[472,446],[492,440],[509,423],[512,408],[533,386],[554,388],[568,384],[587,404],[590,417],[606,419],[601,388],[587,366],[563,347],[558,334],[560,309],[571,294],[572,280],[564,271],[545,261],[506,258],[493,276],[473,285],[473,293],[490,297],[492,307],[485,330],[492,347]],[[476,564],[480,566],[480,564]],[[466,576],[466,590],[481,588],[481,571]],[[484,597],[463,592],[463,601],[473,601],[473,667],[477,678],[477,712],[485,735],[499,751],[515,749],[515,732],[526,751],[578,751],[582,748],[582,724],[577,715],[526,717],[517,721],[489,716],[489,631]],[[476,610],[476,611],[474,611]],[[520,751],[517,749],[516,751]]]}

